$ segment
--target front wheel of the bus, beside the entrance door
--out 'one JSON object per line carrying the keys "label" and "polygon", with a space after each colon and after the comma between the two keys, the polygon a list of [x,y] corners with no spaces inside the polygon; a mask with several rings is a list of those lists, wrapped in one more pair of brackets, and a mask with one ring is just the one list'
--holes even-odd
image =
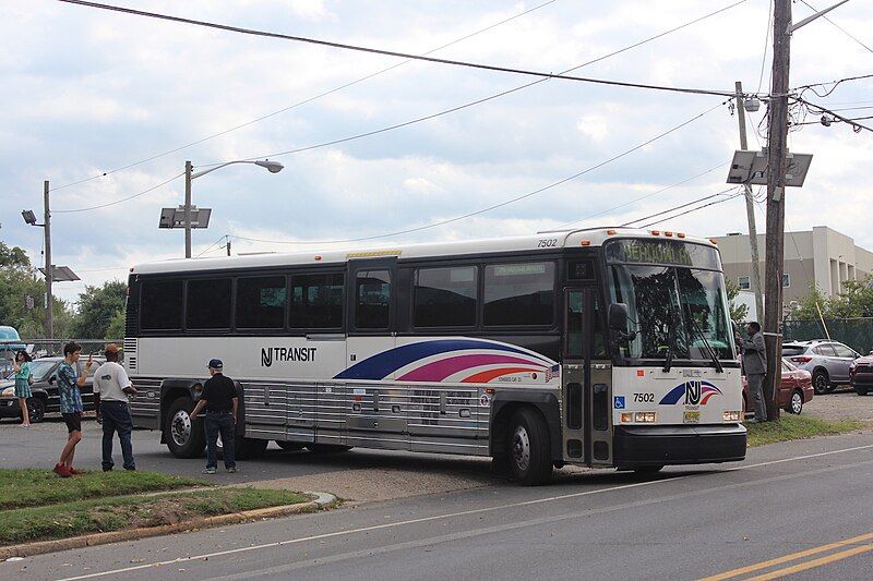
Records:
{"label": "front wheel of the bus, beside the entrance door", "polygon": [[515,480],[525,486],[549,482],[552,459],[549,428],[542,414],[530,408],[517,410],[510,421],[507,436],[510,469]]}

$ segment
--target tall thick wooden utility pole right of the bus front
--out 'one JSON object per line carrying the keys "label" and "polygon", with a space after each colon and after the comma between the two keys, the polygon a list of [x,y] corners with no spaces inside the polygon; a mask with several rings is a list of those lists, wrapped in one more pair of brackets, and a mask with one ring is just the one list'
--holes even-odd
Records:
{"label": "tall thick wooden utility pole right of the bus front", "polygon": [[767,376],[764,399],[767,417],[779,419],[776,401],[781,379],[782,271],[785,268],[785,174],[788,149],[788,73],[791,44],[791,0],[775,0],[773,15],[773,83],[770,85],[767,136],[767,249],[764,307],[764,339],[767,344]]}

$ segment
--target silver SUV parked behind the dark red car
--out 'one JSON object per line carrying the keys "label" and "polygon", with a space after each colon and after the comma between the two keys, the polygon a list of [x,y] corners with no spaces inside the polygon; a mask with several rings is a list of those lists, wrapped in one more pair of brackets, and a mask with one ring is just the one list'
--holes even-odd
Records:
{"label": "silver SUV parked behind the dark red car", "polygon": [[849,366],[861,354],[840,342],[816,339],[782,343],[782,356],[812,374],[812,386],[821,396],[849,384]]}

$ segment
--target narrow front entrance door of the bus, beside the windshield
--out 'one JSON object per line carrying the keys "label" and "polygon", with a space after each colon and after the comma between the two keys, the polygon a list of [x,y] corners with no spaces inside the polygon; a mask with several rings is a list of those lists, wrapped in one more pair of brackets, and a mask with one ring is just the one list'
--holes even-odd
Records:
{"label": "narrow front entrance door of the bus, beside the windshield", "polygon": [[610,465],[612,363],[597,287],[564,289],[562,344],[563,456]]}

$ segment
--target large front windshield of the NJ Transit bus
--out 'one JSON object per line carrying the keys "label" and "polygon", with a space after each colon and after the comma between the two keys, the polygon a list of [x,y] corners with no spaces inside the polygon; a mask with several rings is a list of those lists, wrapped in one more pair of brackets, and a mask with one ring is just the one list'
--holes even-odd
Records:
{"label": "large front windshield of the NJ Transit bus", "polygon": [[613,265],[612,301],[627,305],[636,338],[630,359],[711,361],[733,359],[721,273],[675,266]]}

